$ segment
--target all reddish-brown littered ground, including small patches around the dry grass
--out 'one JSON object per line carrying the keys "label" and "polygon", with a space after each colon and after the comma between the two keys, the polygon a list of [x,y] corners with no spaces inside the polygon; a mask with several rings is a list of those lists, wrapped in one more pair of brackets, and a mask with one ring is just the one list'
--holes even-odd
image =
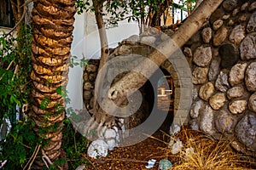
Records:
{"label": "all reddish-brown littered ground, including small patches around the dry grass", "polygon": [[[164,131],[163,131],[164,130]],[[168,159],[174,165],[181,163],[181,155],[172,155],[171,150],[168,149],[170,136],[165,132],[166,128],[162,127],[159,131],[154,133],[148,139],[131,146],[116,147],[114,150],[109,151],[107,157],[92,159],[86,156],[90,161],[85,169],[88,170],[146,170],[145,166],[148,165],[148,160],[155,159],[156,163],[150,170],[157,170],[159,161],[161,159]],[[192,131],[191,129],[182,130],[177,134],[177,137],[185,143],[188,139],[205,138],[201,132]],[[244,163],[241,167],[244,169],[255,169],[254,163]],[[246,168],[247,167],[247,168]]]}

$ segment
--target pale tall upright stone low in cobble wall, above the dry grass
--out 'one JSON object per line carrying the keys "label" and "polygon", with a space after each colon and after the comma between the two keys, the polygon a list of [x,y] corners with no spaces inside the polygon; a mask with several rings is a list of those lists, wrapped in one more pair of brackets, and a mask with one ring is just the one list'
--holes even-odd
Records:
{"label": "pale tall upright stone low in cobble wall, above the dry grass", "polygon": [[209,105],[207,105],[201,116],[201,124],[200,124],[201,130],[204,133],[212,134],[213,133],[212,122],[213,122],[213,111],[212,111],[212,108]]}

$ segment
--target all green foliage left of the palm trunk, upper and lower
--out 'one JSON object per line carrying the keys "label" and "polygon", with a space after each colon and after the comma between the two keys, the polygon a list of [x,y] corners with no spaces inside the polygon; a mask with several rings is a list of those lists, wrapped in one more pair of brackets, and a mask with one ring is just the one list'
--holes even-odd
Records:
{"label": "all green foliage left of the palm trunk, upper and lower", "polygon": [[16,105],[22,108],[30,102],[31,41],[28,25],[21,25],[16,37],[4,32],[0,36],[0,124],[4,117],[12,126],[9,134],[1,134],[0,160],[8,161],[4,169],[24,167],[39,143],[34,122],[22,114],[16,118]]}

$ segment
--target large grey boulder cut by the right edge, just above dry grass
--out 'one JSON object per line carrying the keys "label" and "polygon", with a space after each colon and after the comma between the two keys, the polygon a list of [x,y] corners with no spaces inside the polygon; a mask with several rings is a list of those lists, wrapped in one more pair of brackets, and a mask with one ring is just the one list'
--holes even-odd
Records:
{"label": "large grey boulder cut by the right edge, just above dry grass", "polygon": [[236,125],[236,136],[242,144],[256,151],[256,116],[247,114]]}

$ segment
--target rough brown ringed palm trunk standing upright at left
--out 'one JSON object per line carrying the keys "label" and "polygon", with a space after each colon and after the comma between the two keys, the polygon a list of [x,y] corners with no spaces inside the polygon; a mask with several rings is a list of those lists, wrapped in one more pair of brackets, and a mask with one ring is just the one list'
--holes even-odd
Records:
{"label": "rough brown ringed palm trunk standing upright at left", "polygon": [[[73,41],[75,0],[35,0],[32,8],[32,111],[34,131],[43,139],[41,153],[49,163],[61,155],[64,99]],[[44,107],[42,107],[42,102]],[[40,158],[41,159],[41,158]]]}

